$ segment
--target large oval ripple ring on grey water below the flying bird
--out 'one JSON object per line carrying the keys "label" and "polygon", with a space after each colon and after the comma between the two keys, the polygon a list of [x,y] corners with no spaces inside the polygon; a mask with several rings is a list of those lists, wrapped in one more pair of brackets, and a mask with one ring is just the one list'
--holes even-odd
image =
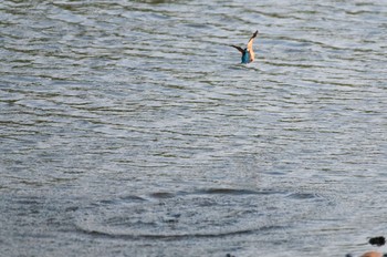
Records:
{"label": "large oval ripple ring on grey water below the flying bird", "polygon": [[[142,201],[125,197],[100,202],[81,210],[77,226],[84,233],[114,237],[212,237],[254,233],[287,226],[295,218],[296,205],[292,202],[296,199],[289,198],[289,206],[279,205],[284,203],[284,197],[287,196],[280,192],[233,189],[154,193]],[[136,201],[128,201],[133,198]]]}

